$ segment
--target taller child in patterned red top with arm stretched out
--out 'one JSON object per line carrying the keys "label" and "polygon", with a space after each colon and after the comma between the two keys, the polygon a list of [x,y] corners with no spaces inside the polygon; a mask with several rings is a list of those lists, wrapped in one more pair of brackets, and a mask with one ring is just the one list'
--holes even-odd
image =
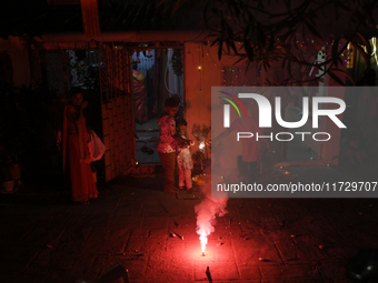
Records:
{"label": "taller child in patterned red top with arm stretched out", "polygon": [[165,102],[166,112],[158,120],[160,127],[159,141],[157,151],[161,160],[161,165],[165,170],[163,191],[167,193],[176,193],[175,188],[175,165],[176,165],[176,149],[183,144],[185,146],[193,144],[193,141],[185,140],[176,134],[176,122],[173,117],[177,113],[179,103],[176,98],[168,98]]}

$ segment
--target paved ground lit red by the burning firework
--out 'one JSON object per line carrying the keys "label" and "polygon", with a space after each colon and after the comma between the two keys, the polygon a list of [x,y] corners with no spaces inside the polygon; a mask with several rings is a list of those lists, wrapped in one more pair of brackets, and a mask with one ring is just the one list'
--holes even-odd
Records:
{"label": "paved ground lit red by the burning firework", "polygon": [[[300,170],[318,180],[337,173]],[[213,282],[339,283],[350,282],[358,251],[378,249],[377,199],[230,199],[203,257],[201,200],[163,193],[161,181],[118,180],[90,205],[57,188],[1,194],[0,282],[90,281],[119,263],[131,282],[208,282],[209,266]]]}

